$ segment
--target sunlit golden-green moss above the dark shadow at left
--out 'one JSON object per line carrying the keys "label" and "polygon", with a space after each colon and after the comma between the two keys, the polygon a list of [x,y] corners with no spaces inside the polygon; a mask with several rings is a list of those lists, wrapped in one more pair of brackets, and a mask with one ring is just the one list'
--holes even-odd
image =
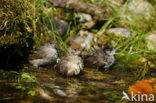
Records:
{"label": "sunlit golden-green moss above the dark shadow at left", "polygon": [[0,0],[0,46],[18,44],[26,39],[26,5],[23,0]]}

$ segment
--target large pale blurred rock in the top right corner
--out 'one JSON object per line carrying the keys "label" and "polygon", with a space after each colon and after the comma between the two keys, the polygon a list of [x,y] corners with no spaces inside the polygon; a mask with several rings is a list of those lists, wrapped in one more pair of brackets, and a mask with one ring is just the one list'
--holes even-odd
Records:
{"label": "large pale blurred rock in the top right corner", "polygon": [[149,20],[153,11],[153,6],[145,0],[130,0],[121,8],[121,17],[128,20]]}

